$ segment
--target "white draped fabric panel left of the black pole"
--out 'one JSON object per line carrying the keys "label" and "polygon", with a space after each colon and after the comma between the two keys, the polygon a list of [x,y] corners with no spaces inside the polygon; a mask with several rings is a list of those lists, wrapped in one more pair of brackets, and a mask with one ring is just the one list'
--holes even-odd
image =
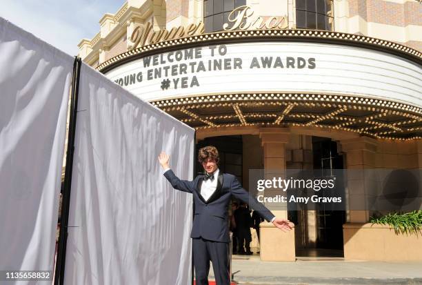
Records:
{"label": "white draped fabric panel left of the black pole", "polygon": [[0,18],[0,271],[53,270],[73,61]]}

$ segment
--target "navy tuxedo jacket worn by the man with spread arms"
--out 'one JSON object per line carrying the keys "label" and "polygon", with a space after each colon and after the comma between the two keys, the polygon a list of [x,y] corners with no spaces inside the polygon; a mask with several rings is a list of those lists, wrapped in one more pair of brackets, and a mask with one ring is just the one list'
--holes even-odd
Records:
{"label": "navy tuxedo jacket worn by the man with spread arms", "polygon": [[164,176],[170,181],[173,188],[192,193],[194,197],[195,213],[190,235],[192,238],[203,237],[203,239],[214,242],[230,242],[228,204],[232,195],[249,204],[252,209],[256,210],[268,222],[274,217],[268,208],[265,208],[248,191],[243,189],[234,175],[220,171],[217,189],[207,201],[201,196],[201,185],[204,175],[198,175],[193,181],[181,180],[170,169],[164,173]]}

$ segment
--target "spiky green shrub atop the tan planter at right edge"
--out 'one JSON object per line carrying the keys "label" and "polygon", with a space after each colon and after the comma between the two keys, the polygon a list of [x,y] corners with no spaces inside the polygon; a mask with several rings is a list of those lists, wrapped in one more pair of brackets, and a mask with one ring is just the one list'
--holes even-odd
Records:
{"label": "spiky green shrub atop the tan planter at right edge", "polygon": [[372,224],[384,224],[394,228],[396,234],[421,234],[422,235],[422,210],[410,213],[389,213],[387,215],[374,215],[370,217]]}

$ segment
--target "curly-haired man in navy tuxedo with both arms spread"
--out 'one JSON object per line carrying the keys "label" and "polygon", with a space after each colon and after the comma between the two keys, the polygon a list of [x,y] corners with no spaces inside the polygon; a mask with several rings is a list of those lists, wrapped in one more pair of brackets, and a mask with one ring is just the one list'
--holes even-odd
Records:
{"label": "curly-haired man in navy tuxedo with both arms spread", "polygon": [[242,188],[234,175],[219,171],[219,153],[214,146],[205,146],[199,150],[198,160],[203,166],[204,175],[198,175],[193,181],[181,180],[174,175],[169,160],[166,153],[160,153],[159,163],[165,170],[165,178],[173,188],[192,193],[194,197],[195,213],[190,237],[197,285],[208,285],[210,260],[217,285],[230,284],[228,204],[232,195],[249,204],[277,228],[283,231],[292,230],[293,224],[288,219],[275,217]]}

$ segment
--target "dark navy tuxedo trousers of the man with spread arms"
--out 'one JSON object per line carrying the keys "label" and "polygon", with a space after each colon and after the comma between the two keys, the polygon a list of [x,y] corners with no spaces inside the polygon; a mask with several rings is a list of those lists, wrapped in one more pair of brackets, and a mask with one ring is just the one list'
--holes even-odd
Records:
{"label": "dark navy tuxedo trousers of the man with spread arms", "polygon": [[230,285],[229,244],[202,237],[192,239],[195,279],[197,285],[208,285],[210,261],[217,285]]}

